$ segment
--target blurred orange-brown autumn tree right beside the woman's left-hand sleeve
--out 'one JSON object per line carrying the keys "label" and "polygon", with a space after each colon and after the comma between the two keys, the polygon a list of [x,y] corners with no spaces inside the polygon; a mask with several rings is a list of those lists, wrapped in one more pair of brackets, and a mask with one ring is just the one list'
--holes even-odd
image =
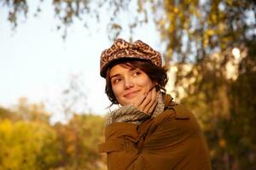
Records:
{"label": "blurred orange-brown autumn tree right beside the woman's left-hand sleeve", "polygon": [[106,169],[105,156],[98,153],[97,144],[103,141],[104,118],[93,115],[74,115],[67,125],[55,124],[61,141],[61,167],[65,169]]}

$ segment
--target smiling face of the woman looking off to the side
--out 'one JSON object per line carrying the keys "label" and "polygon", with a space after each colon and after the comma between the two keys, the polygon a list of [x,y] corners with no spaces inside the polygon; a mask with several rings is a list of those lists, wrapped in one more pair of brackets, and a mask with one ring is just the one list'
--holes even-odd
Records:
{"label": "smiling face of the woman looking off to the side", "polygon": [[140,69],[122,64],[114,65],[109,71],[113,94],[120,105],[135,104],[154,87],[148,75]]}

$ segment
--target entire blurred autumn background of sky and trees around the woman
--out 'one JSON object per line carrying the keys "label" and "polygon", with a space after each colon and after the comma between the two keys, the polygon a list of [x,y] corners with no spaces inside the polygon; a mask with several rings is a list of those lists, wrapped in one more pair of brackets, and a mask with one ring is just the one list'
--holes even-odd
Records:
{"label": "entire blurred autumn background of sky and trees around the woman", "polygon": [[256,169],[253,0],[0,0],[0,169],[107,169],[113,39],[147,42],[198,118],[212,169]]}

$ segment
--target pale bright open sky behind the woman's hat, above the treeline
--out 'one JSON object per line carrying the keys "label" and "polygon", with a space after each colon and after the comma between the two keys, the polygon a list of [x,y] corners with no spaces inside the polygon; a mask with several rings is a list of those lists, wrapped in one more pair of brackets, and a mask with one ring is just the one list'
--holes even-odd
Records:
{"label": "pale bright open sky behind the woman's hat, above the treeline", "polygon": [[[37,3],[30,0],[28,4],[27,19],[21,20],[15,31],[7,20],[6,8],[0,10],[0,105],[12,107],[21,97],[29,103],[43,102],[49,112],[55,113],[53,122],[61,121],[63,114],[58,110],[61,92],[68,87],[71,77],[79,77],[86,94],[86,106],[82,104],[77,109],[106,114],[110,103],[104,93],[105,80],[99,74],[102,50],[112,44],[106,20],[101,23],[92,20],[88,29],[75,21],[68,28],[64,41],[63,32],[55,29],[58,21],[50,2],[42,3],[38,17],[33,16]],[[131,14],[124,14],[120,24],[127,26],[130,17]],[[134,40],[141,39],[155,49],[160,48],[160,38],[153,23],[135,32]],[[127,41],[129,36],[125,29],[119,35]]]}

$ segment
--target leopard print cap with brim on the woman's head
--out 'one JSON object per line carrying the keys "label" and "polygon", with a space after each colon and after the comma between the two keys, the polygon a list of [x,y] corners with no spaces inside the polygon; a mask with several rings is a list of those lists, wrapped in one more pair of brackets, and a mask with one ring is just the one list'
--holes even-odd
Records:
{"label": "leopard print cap with brim on the woman's head", "polygon": [[101,76],[106,77],[108,66],[116,59],[132,58],[132,59],[148,59],[154,65],[161,66],[161,55],[158,51],[149,47],[148,44],[137,40],[136,42],[125,42],[118,38],[113,45],[102,51],[101,56]]}

